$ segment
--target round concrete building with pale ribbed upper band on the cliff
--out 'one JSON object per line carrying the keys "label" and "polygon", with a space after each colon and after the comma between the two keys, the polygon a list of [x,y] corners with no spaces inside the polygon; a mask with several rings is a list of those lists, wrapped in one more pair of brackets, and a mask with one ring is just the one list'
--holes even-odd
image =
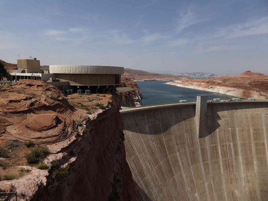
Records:
{"label": "round concrete building with pale ribbed upper band on the cliff", "polygon": [[90,66],[90,65],[50,65],[49,72],[53,73],[60,82],[69,82],[73,89],[114,88],[121,84],[121,74],[124,67]]}

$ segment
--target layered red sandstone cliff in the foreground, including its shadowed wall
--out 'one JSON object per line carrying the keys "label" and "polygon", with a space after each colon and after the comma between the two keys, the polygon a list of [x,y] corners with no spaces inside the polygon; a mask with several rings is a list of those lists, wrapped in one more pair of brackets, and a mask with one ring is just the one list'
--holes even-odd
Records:
{"label": "layered red sandstone cliff in the foreground, including its shadowed wall", "polygon": [[22,80],[1,88],[0,144],[31,140],[46,145],[49,155],[42,161],[47,170],[25,163],[29,173],[0,181],[0,190],[9,190],[12,183],[21,200],[136,200],[125,156],[121,99],[111,99],[106,109],[86,114],[42,81]]}

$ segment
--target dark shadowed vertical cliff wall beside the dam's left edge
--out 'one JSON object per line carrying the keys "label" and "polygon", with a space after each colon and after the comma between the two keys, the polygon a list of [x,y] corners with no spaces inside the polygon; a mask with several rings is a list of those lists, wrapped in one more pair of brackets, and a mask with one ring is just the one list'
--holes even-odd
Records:
{"label": "dark shadowed vertical cliff wall beside the dam's left edge", "polygon": [[57,181],[58,188],[51,189],[55,182],[52,169],[47,185],[33,200],[136,200],[126,162],[120,98],[114,96],[114,102],[114,107],[85,123],[82,136],[73,145],[68,173]]}

